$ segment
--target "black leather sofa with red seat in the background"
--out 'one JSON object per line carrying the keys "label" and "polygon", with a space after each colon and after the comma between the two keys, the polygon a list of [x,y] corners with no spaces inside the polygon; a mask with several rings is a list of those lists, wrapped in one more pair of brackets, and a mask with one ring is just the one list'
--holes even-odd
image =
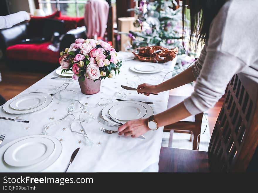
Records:
{"label": "black leather sofa with red seat in the background", "polygon": [[[50,21],[47,21],[49,20]],[[42,26],[46,23],[50,27]],[[55,22],[51,24],[51,22]],[[53,25],[59,26],[53,26]],[[46,25],[46,24],[45,24]],[[53,27],[51,27],[53,26]],[[82,26],[82,27],[81,27]],[[45,28],[44,28],[45,27]],[[50,37],[44,42],[21,43],[30,37],[51,35],[51,29],[57,27],[60,36],[60,50],[51,51],[47,47],[51,44]],[[79,27],[79,28],[77,28]],[[86,38],[84,18],[62,16],[59,11],[45,17],[32,17],[29,23],[17,24],[8,29],[0,30],[0,45],[6,56],[6,62],[11,69],[29,71],[52,71],[59,66],[59,52],[69,47],[76,38]],[[49,33],[48,35],[46,35]]]}

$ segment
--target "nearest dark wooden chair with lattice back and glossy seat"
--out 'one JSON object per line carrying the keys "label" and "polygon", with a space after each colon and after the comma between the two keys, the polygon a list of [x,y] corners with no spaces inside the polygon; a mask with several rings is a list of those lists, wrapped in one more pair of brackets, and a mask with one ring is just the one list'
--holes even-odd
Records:
{"label": "nearest dark wooden chair with lattice back and glossy seat", "polygon": [[159,172],[245,172],[258,145],[257,83],[230,81],[208,152],[162,147]]}

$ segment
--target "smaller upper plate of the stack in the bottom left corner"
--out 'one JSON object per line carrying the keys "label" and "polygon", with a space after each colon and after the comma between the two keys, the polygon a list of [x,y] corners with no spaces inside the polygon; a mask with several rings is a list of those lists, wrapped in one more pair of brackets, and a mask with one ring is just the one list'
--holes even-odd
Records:
{"label": "smaller upper plate of the stack in the bottom left corner", "polygon": [[4,161],[15,167],[39,163],[49,157],[55,149],[52,140],[45,137],[30,137],[11,145],[4,153]]}

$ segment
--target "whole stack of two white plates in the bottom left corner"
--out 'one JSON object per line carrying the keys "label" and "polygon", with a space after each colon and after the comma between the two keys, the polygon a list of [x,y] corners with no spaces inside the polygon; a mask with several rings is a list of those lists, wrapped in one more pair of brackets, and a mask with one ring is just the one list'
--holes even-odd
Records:
{"label": "whole stack of two white plates in the bottom left corner", "polygon": [[29,135],[0,148],[0,172],[40,172],[62,152],[59,140],[47,135]]}

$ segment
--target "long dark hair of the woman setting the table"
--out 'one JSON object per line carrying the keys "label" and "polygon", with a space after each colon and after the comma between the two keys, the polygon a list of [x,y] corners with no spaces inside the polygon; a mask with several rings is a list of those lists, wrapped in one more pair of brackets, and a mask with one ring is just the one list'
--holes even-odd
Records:
{"label": "long dark hair of the woman setting the table", "polygon": [[[205,43],[209,38],[209,29],[212,20],[218,14],[220,8],[228,0],[189,0],[190,6],[190,40],[189,48],[193,46],[192,36],[195,36],[194,50],[197,49],[198,43]],[[183,37],[185,29],[186,0],[183,0],[182,19],[183,19]]]}

